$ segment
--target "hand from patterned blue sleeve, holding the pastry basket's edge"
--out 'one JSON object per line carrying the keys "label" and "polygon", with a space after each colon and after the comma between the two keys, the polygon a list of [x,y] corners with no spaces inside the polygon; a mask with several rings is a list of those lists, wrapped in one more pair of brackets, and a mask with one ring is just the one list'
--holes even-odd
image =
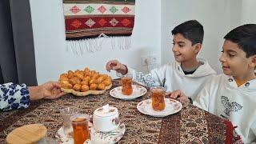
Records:
{"label": "hand from patterned blue sleeve, holding the pastry basket's edge", "polygon": [[65,93],[61,91],[61,86],[58,82],[46,82],[41,86],[30,86],[28,90],[30,91],[30,100],[38,99],[55,99],[59,98]]}

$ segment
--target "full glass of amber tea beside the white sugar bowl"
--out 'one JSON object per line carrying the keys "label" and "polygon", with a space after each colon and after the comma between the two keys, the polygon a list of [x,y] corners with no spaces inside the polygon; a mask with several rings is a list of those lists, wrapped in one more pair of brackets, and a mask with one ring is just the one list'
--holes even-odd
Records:
{"label": "full glass of amber tea beside the white sugar bowl", "polygon": [[88,114],[74,114],[70,117],[73,127],[74,144],[82,144],[87,139],[90,139],[89,120]]}

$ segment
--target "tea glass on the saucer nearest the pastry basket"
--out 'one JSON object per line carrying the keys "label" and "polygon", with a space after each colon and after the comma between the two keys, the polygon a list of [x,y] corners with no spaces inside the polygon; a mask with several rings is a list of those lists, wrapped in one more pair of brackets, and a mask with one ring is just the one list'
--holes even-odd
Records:
{"label": "tea glass on the saucer nearest the pastry basket", "polygon": [[121,77],[122,94],[124,95],[133,94],[132,79],[133,77],[131,74],[126,74]]}

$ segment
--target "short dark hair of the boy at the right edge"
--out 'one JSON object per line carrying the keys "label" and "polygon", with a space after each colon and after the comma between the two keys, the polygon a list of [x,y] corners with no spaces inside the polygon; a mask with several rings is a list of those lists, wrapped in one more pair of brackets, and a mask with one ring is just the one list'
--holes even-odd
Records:
{"label": "short dark hair of the boy at the right edge", "polygon": [[246,53],[246,58],[256,54],[256,24],[238,26],[224,38],[237,43],[238,47]]}

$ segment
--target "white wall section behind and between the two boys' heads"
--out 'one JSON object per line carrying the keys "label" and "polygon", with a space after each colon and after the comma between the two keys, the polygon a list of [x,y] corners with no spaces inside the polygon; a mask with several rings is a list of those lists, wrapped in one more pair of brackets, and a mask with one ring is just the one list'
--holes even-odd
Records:
{"label": "white wall section behind and between the two boys' heads", "polygon": [[162,63],[174,61],[171,52],[171,30],[182,22],[196,19],[204,26],[205,36],[198,57],[205,58],[221,73],[218,56],[224,35],[240,25],[240,0],[163,0],[162,1]]}

